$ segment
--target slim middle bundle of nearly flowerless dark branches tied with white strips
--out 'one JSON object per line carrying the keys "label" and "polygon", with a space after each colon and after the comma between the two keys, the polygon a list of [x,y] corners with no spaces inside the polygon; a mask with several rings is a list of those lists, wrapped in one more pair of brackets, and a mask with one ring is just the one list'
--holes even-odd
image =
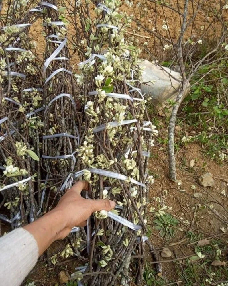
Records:
{"label": "slim middle bundle of nearly flowerless dark branches tied with white strips", "polygon": [[[76,150],[80,142],[82,116],[78,110],[80,102],[74,92],[74,79],[69,64],[66,28],[59,21],[56,2],[46,4],[44,32],[46,36],[44,75],[44,134],[43,165],[45,173],[52,179],[48,183],[57,191],[66,177],[63,190],[69,182],[72,185],[72,171],[78,170]],[[69,176],[68,176],[69,174]],[[57,180],[57,182],[56,182]],[[50,192],[49,192],[50,195]],[[49,198],[49,196],[48,196]],[[45,210],[47,210],[48,200]]]}

